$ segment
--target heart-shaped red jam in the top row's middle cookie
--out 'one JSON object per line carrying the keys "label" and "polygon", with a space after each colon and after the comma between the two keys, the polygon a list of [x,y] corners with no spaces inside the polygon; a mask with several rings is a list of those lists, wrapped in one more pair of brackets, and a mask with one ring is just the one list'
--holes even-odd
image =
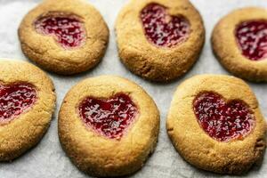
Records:
{"label": "heart-shaped red jam in the top row's middle cookie", "polygon": [[189,22],[182,16],[169,15],[163,5],[148,4],[142,9],[140,17],[145,36],[158,46],[173,47],[189,36]]}

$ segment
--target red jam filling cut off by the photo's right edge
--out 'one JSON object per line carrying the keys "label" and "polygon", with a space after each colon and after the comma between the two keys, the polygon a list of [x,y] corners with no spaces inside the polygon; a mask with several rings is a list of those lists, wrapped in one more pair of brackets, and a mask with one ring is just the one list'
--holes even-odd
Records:
{"label": "red jam filling cut off by the photo's right edge", "polygon": [[249,60],[267,58],[267,21],[245,21],[236,29],[239,48]]}

